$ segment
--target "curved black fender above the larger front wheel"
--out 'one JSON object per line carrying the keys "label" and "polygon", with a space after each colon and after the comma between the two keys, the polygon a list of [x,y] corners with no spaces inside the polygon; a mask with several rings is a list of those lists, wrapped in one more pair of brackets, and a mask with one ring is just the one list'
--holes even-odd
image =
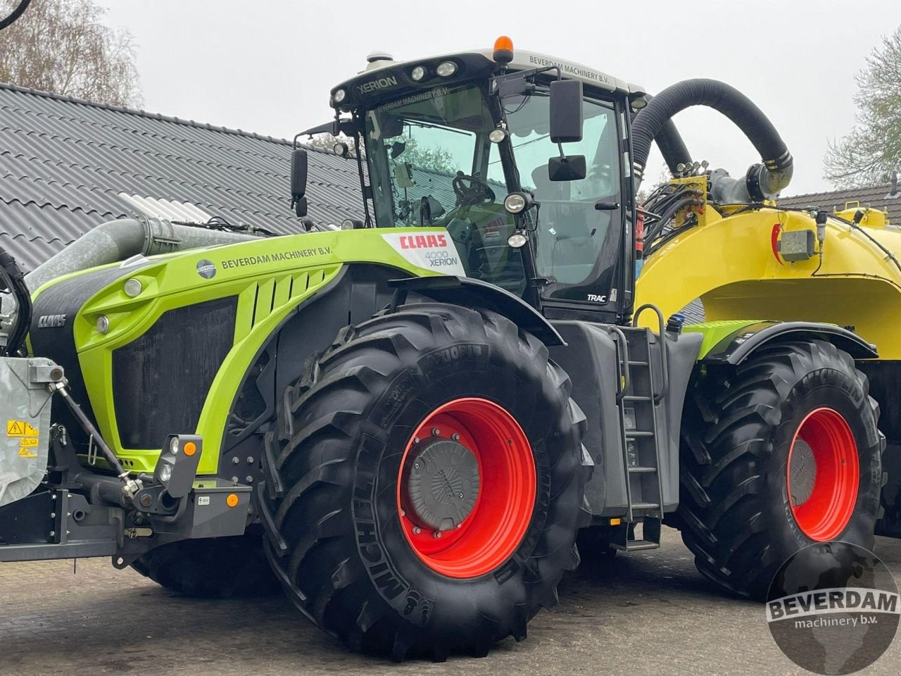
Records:
{"label": "curved black fender above the larger front wheel", "polygon": [[464,307],[485,307],[504,315],[514,324],[532,333],[548,347],[566,345],[563,336],[542,313],[503,288],[481,279],[468,277],[412,277],[392,279],[388,284],[396,288],[392,306],[404,305],[409,291],[432,298],[439,303],[454,303]]}

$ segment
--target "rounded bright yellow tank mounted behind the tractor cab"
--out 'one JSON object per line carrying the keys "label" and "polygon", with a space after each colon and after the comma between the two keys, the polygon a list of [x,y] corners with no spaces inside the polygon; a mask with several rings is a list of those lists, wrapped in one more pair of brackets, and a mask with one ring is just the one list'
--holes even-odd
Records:
{"label": "rounded bright yellow tank mounted behind the tractor cab", "polygon": [[[704,177],[674,183],[706,194]],[[693,210],[698,224],[645,261],[636,306],[653,303],[667,316],[699,298],[707,321],[838,324],[876,343],[880,359],[901,359],[901,229],[883,212],[846,205],[821,226],[820,242],[813,212],[703,200]]]}

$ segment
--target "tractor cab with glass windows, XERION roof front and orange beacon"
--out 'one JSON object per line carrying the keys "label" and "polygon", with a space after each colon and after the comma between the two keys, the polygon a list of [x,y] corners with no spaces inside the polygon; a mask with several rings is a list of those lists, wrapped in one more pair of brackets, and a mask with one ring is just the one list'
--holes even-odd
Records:
{"label": "tractor cab with glass windows, XERION roof front and orange beacon", "polygon": [[363,149],[359,225],[444,227],[470,278],[549,317],[623,323],[634,250],[626,121],[638,96],[501,38],[433,59],[372,54],[332,89],[335,122],[309,132],[342,132]]}

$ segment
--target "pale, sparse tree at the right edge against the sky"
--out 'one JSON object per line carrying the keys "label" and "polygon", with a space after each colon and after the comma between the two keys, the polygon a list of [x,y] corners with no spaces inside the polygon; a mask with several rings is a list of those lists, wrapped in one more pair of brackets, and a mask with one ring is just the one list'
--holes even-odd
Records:
{"label": "pale, sparse tree at the right edge against the sky", "polygon": [[856,79],[857,124],[829,143],[824,159],[835,187],[887,183],[901,165],[901,27],[870,52]]}

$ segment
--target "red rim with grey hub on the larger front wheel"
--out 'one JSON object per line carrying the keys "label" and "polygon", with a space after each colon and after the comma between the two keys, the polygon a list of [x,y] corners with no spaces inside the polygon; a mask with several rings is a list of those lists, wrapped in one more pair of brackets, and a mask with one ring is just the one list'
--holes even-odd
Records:
{"label": "red rim with grey hub on the larger front wheel", "polygon": [[532,445],[493,401],[462,397],[425,417],[406,445],[397,510],[408,544],[432,571],[475,578],[496,570],[532,521]]}

